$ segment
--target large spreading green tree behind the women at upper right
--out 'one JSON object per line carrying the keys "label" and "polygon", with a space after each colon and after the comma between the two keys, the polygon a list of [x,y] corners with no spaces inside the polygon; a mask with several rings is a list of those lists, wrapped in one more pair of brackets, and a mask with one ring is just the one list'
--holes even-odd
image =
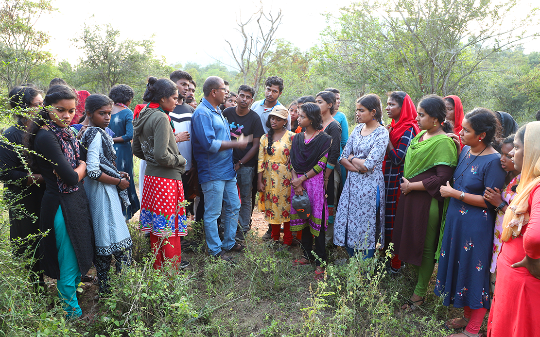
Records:
{"label": "large spreading green tree behind the women at upper right", "polygon": [[369,91],[463,93],[475,86],[483,61],[528,36],[537,10],[509,22],[516,1],[362,0],[329,15],[337,27],[323,33],[318,49],[322,71],[357,95]]}

